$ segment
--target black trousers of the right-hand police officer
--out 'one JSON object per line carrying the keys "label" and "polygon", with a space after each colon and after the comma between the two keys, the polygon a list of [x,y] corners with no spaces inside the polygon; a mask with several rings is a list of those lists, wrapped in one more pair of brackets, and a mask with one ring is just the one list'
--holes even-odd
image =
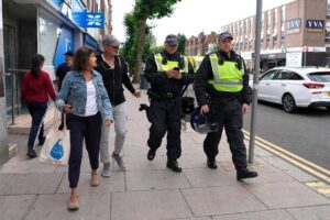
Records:
{"label": "black trousers of the right-hand police officer", "polygon": [[215,158],[218,155],[218,145],[224,128],[235,168],[246,168],[246,148],[244,145],[244,134],[242,132],[243,113],[241,101],[239,99],[227,101],[211,99],[209,120],[219,123],[219,131],[207,134],[204,141],[206,155],[209,158]]}

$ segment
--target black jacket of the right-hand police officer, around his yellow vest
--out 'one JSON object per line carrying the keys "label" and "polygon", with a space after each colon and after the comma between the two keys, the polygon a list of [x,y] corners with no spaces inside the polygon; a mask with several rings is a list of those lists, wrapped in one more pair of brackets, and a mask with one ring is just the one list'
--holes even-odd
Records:
{"label": "black jacket of the right-hand police officer, around his yellow vest", "polygon": [[[230,52],[230,56],[227,53],[222,53],[222,52],[218,52],[218,55],[219,53],[224,58],[224,61],[231,61],[231,62],[244,61],[240,55],[238,55],[233,51]],[[212,85],[209,85],[207,82],[210,79],[212,80],[215,77],[213,77],[212,66],[210,63],[210,57],[209,55],[205,56],[195,78],[195,94],[196,94],[198,105],[199,106],[208,105],[209,97],[238,98],[241,100],[242,103],[250,103],[251,90],[249,88],[249,74],[246,72],[244,62],[242,67],[244,68],[242,91],[240,92],[218,91],[213,88]]]}

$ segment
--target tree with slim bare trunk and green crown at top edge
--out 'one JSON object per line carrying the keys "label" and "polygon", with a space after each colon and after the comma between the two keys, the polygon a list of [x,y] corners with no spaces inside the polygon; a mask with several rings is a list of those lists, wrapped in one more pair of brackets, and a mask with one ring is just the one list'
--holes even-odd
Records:
{"label": "tree with slim bare trunk and green crown at top edge", "polygon": [[135,75],[133,82],[140,81],[140,72],[142,66],[142,56],[145,46],[145,30],[148,19],[161,19],[173,13],[174,4],[180,0],[135,0],[134,13],[139,19],[138,54],[135,64]]}

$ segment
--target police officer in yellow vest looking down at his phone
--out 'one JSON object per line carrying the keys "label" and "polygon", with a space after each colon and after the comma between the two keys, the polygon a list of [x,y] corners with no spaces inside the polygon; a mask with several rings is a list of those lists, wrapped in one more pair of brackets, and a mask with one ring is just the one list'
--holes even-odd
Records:
{"label": "police officer in yellow vest looking down at his phone", "polygon": [[180,173],[177,158],[182,155],[180,116],[183,88],[194,82],[194,68],[188,58],[177,53],[178,37],[167,35],[165,50],[152,55],[145,64],[145,77],[151,84],[151,128],[147,158],[153,161],[167,132],[167,167]]}

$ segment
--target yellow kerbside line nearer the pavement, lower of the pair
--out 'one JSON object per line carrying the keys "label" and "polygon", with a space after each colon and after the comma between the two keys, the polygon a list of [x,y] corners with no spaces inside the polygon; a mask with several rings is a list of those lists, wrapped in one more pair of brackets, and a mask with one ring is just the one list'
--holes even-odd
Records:
{"label": "yellow kerbside line nearer the pavement, lower of the pair", "polygon": [[[243,132],[244,132],[244,134],[245,134],[245,138],[246,138],[248,140],[250,140],[250,133],[246,132],[246,131],[243,131]],[[330,177],[326,176],[324,174],[322,174],[322,173],[316,170],[315,168],[311,168],[311,167],[309,167],[309,166],[307,166],[307,165],[305,165],[305,164],[298,162],[297,160],[292,158],[290,156],[284,154],[283,152],[278,151],[278,147],[279,147],[279,146],[277,146],[277,147],[275,148],[275,147],[273,147],[274,144],[272,144],[272,145],[270,146],[270,145],[267,145],[267,144],[262,143],[261,141],[258,141],[260,138],[258,138],[258,139],[255,139],[255,140],[256,140],[256,141],[255,141],[256,145],[261,146],[262,148],[264,148],[264,150],[266,150],[266,151],[268,151],[268,152],[272,152],[273,154],[279,156],[280,158],[286,160],[287,162],[289,162],[289,163],[296,165],[297,167],[301,168],[302,170],[305,170],[305,172],[307,172],[307,173],[310,173],[310,174],[312,174],[312,175],[319,177],[320,179],[322,179],[322,180],[324,180],[324,182],[327,182],[327,183],[330,183]],[[270,143],[270,142],[268,142],[268,143]],[[279,148],[280,148],[280,147],[279,147]],[[293,153],[290,153],[290,154],[293,154]],[[294,155],[294,154],[293,154],[293,155]],[[305,161],[306,161],[306,160],[305,160]],[[311,162],[309,162],[309,163],[311,163]],[[312,163],[311,163],[311,164],[312,164]]]}

